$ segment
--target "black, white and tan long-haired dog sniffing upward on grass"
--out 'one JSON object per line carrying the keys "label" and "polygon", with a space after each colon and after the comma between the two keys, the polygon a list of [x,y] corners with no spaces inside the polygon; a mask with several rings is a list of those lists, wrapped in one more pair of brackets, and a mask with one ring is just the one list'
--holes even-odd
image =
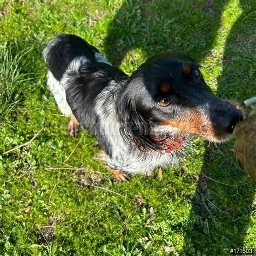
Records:
{"label": "black, white and tan long-haired dog sniffing upward on grass", "polygon": [[117,180],[176,165],[195,135],[224,142],[242,119],[183,53],[156,55],[130,77],[76,35],[56,36],[43,57],[56,103],[71,117],[69,133],[76,136],[80,126],[92,133]]}

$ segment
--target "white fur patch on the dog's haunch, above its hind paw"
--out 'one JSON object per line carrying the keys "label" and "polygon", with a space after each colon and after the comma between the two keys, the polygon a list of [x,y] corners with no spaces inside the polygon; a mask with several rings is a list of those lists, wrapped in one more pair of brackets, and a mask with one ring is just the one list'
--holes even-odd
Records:
{"label": "white fur patch on the dog's haunch, above its hind paw", "polygon": [[70,109],[68,102],[66,102],[66,92],[64,90],[64,87],[62,86],[62,84],[59,83],[58,80],[56,80],[55,77],[53,77],[50,71],[48,71],[48,74],[47,74],[47,82],[51,92],[53,93],[53,96],[59,107],[59,110],[65,116],[71,116],[72,111]]}

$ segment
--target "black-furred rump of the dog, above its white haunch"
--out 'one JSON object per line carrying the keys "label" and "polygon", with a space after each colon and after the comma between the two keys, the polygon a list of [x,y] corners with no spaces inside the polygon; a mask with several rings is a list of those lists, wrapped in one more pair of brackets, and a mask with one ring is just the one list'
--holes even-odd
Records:
{"label": "black-furred rump of the dog, above its white haunch", "polygon": [[44,61],[52,75],[60,80],[74,59],[83,59],[88,64],[103,62],[110,64],[94,46],[76,35],[60,34],[43,50]]}

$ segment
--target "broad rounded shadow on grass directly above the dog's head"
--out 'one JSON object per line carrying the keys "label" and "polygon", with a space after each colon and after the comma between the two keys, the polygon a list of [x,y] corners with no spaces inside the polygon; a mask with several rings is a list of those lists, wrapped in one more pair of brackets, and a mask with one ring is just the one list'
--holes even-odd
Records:
{"label": "broad rounded shadow on grass directly above the dog's head", "polygon": [[106,56],[118,66],[134,49],[145,57],[173,49],[200,62],[212,49],[227,2],[125,1],[107,29]]}

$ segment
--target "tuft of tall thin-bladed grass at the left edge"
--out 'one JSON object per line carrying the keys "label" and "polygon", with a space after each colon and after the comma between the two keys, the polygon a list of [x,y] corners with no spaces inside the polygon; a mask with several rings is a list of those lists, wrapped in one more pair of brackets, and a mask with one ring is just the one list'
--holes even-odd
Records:
{"label": "tuft of tall thin-bladed grass at the left edge", "polygon": [[[0,122],[15,111],[29,73],[22,71],[32,48],[14,50],[13,44],[0,44]],[[14,53],[15,52],[15,53]]]}

